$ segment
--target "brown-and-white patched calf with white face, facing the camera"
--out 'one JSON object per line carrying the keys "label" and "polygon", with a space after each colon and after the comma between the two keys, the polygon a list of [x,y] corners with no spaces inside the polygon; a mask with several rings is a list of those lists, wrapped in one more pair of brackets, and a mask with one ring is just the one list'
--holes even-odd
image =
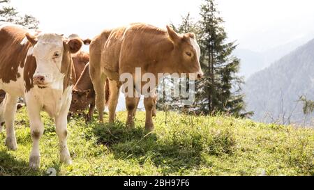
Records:
{"label": "brown-and-white patched calf with white face, facing the camera", "polygon": [[40,164],[39,141],[44,132],[40,111],[54,118],[60,159],[70,164],[67,114],[74,85],[71,54],[78,52],[83,42],[56,33],[31,32],[22,26],[0,25],[0,89],[6,91],[1,116],[6,122],[6,145],[17,149],[13,122],[17,99],[24,97],[33,140],[31,168]]}

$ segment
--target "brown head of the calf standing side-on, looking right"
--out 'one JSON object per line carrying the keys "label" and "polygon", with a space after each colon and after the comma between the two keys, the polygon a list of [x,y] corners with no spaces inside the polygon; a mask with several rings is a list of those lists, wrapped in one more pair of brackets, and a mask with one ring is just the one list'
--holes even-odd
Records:
{"label": "brown head of the calf standing side-on, looking right", "polygon": [[174,45],[174,68],[181,73],[194,74],[190,79],[200,79],[204,73],[200,67],[200,46],[197,44],[194,33],[178,34],[170,26],[167,32]]}

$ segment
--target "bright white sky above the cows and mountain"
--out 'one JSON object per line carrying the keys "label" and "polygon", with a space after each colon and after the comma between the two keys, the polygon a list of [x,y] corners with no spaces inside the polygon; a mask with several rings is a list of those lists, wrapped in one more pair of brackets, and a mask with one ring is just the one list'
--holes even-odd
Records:
{"label": "bright white sky above the cows and mountain", "polygon": [[[230,40],[262,50],[314,34],[312,0],[217,0]],[[40,29],[93,38],[103,29],[130,22],[165,27],[181,15],[199,17],[202,0],[12,0],[22,13],[40,20]],[[314,35],[313,35],[314,38]]]}

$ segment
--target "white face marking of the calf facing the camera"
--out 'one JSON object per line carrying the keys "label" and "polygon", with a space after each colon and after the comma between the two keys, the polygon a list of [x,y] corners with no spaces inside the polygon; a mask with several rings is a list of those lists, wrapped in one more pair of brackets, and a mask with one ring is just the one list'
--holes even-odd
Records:
{"label": "white face marking of the calf facing the camera", "polygon": [[33,56],[36,58],[37,65],[34,76],[43,76],[45,77],[45,84],[57,85],[54,88],[59,88],[60,79],[64,77],[61,74],[63,56],[62,35],[51,33],[39,35],[38,42],[33,47]]}

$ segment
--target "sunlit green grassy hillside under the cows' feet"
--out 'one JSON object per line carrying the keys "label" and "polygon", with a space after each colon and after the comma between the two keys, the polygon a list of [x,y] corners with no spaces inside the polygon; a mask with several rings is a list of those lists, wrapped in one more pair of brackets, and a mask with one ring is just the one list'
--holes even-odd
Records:
{"label": "sunlit green grassy hillside under the cows' feet", "polygon": [[[136,128],[124,127],[125,112],[114,126],[69,123],[68,146],[73,165],[59,164],[52,121],[43,114],[39,171],[28,167],[31,137],[25,110],[17,114],[18,150],[4,146],[0,134],[0,175],[314,175],[314,130],[264,125],[230,117],[193,117],[165,113],[154,119],[156,130],[144,134],[144,113]],[[107,120],[107,118],[106,118]]]}

